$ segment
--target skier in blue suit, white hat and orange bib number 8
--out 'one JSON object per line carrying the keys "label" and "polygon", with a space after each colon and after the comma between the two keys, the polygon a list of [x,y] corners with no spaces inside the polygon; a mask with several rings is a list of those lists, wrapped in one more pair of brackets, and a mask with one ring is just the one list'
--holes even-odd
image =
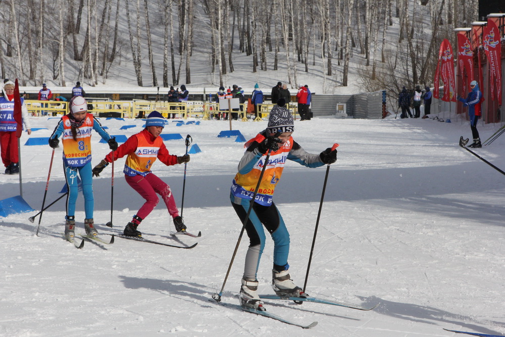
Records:
{"label": "skier in blue suit, white hat and orange bib number 8", "polygon": [[82,96],[76,96],[70,101],[69,114],[63,116],[51,137],[49,146],[53,149],[63,143],[63,170],[69,194],[67,195],[67,215],[65,216],[65,238],[69,241],[75,236],[75,202],[79,194],[77,173],[81,176],[82,194],[84,195],[84,229],[87,235],[98,235],[93,221],[93,181],[91,175],[91,131],[95,130],[109,143],[111,150],[118,148],[115,138],[102,127],[93,115],[87,112],[87,103]]}

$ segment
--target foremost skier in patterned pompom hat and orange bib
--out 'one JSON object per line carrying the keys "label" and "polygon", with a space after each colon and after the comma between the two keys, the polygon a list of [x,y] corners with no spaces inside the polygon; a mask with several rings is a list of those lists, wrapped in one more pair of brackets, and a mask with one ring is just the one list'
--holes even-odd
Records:
{"label": "foremost skier in patterned pompom hat and orange bib", "polygon": [[[274,242],[272,287],[278,296],[307,297],[301,287],[291,280],[289,274],[289,233],[282,216],[273,202],[274,190],[282,175],[287,160],[309,168],[331,164],[337,160],[337,151],[330,148],[321,154],[311,154],[293,140],[293,116],[279,99],[268,119],[268,127],[255,138],[245,143],[245,154],[238,165],[238,173],[233,179],[230,200],[233,209],[244,223],[249,207],[250,216],[245,222],[249,237],[249,248],[245,254],[244,273],[240,287],[240,304],[244,307],[265,310],[258,296],[258,268],[265,247],[265,227]],[[251,203],[258,177],[266,156],[270,161],[260,182],[258,194]]]}

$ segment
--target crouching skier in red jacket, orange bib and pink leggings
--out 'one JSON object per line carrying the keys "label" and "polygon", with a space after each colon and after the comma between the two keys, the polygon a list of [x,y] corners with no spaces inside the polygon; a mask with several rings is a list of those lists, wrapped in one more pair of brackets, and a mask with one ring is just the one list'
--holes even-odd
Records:
{"label": "crouching skier in red jacket, orange bib and pink leggings", "polygon": [[123,231],[125,235],[141,237],[142,234],[137,227],[158,205],[159,198],[156,194],[159,194],[165,202],[168,213],[173,218],[175,229],[178,232],[186,230],[170,186],[151,171],[151,166],[157,159],[167,166],[187,163],[190,159],[187,154],[181,157],[169,154],[160,137],[164,127],[165,119],[162,114],[158,111],[151,112],[145,121],[145,129],[132,135],[114,153],[109,153],[93,168],[93,175],[99,176],[113,159],[128,156],[123,170],[126,182],[145,199],[145,203],[126,225]]}

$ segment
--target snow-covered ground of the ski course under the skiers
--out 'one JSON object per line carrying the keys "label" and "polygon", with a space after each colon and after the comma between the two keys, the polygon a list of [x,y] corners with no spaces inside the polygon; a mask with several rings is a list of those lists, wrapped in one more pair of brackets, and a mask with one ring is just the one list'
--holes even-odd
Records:
{"label": "snow-covered ground of the ski course under the skiers", "polygon": [[[201,153],[187,165],[184,219],[201,238],[169,235],[173,224],[160,203],[139,229],[144,237],[191,250],[117,238],[110,246],[86,242],[82,250],[62,239],[65,203],[43,213],[39,236],[28,217],[0,218],[0,335],[306,335],[452,336],[442,328],[505,333],[503,282],[505,179],[458,146],[470,137],[467,122],[425,119],[358,120],[313,118],[296,122],[295,140],[319,153],[338,142],[331,165],[307,292],[312,296],[375,305],[358,311],[321,304],[266,301],[268,311],[308,324],[280,323],[209,302],[219,292],[241,224],[230,206],[229,188],[243,153],[235,137],[218,138],[227,121],[201,121],[164,133],[190,134]],[[142,121],[105,120],[111,134],[127,136]],[[34,118],[51,134],[56,119]],[[245,138],[264,122],[234,122]],[[124,124],[137,127],[119,130]],[[486,139],[500,125],[479,125]],[[22,143],[27,139],[23,135]],[[93,134],[93,165],[107,153]],[[172,154],[185,152],[184,140],[166,141]],[[505,169],[505,136],[475,150]],[[61,150],[46,205],[64,185]],[[22,147],[23,196],[40,209],[51,149]],[[110,221],[111,166],[94,180],[95,223],[100,233],[119,233],[142,204],[125,182],[123,160],[115,165],[114,228]],[[286,165],[274,200],[291,234],[290,272],[304,284],[318,214],[325,167]],[[154,172],[172,187],[180,207],[184,167],[155,163]],[[0,199],[19,194],[18,177],[0,175]],[[82,195],[77,205],[83,232]],[[104,235],[105,237],[108,237]],[[236,304],[247,238],[243,237],[226,283],[223,302]],[[261,261],[260,292],[272,294],[272,242]]]}

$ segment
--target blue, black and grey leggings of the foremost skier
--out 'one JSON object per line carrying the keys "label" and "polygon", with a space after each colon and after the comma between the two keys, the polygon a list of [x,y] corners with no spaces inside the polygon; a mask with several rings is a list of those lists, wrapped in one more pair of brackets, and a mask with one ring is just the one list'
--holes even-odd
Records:
{"label": "blue, black and grey leggings of the foremost skier", "polygon": [[[250,207],[250,200],[231,196],[231,201],[235,212],[243,223]],[[240,204],[236,204],[237,201]],[[245,256],[244,267],[244,276],[247,278],[256,279],[261,255],[265,248],[266,235],[263,226],[274,240],[274,266],[287,265],[289,233],[282,216],[274,203],[271,206],[254,203],[245,225],[247,236],[249,236],[249,249]]]}

